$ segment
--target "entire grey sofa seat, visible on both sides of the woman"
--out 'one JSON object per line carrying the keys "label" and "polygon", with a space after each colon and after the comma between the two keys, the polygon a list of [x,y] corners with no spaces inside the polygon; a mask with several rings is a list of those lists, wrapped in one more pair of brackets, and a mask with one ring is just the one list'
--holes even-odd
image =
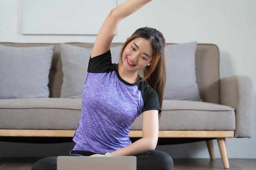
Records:
{"label": "entire grey sofa seat, visible on both sides of the woman", "polygon": [[[81,99],[74,98],[2,99],[0,129],[75,130],[81,116],[81,104]],[[141,130],[141,121],[142,116],[139,116],[131,130]],[[232,107],[209,102],[164,100],[159,130],[234,131],[235,122]]]}

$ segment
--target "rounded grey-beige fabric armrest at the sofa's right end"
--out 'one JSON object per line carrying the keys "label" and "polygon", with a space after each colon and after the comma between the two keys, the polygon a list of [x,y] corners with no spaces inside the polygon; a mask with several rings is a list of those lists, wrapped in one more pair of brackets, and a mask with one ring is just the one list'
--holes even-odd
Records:
{"label": "rounded grey-beige fabric armrest at the sofa's right end", "polygon": [[221,104],[235,108],[234,137],[252,137],[254,100],[252,78],[235,75],[222,78],[220,82]]}

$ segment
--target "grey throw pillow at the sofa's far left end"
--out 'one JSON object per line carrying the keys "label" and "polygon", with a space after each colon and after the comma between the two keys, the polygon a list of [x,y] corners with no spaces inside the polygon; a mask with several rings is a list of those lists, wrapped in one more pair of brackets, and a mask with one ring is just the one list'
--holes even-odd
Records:
{"label": "grey throw pillow at the sofa's far left end", "polygon": [[0,99],[48,98],[54,47],[0,45]]}

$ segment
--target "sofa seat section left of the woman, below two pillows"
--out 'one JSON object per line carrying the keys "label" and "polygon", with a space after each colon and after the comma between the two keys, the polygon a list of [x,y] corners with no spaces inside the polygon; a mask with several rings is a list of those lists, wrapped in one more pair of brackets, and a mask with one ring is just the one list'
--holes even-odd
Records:
{"label": "sofa seat section left of the woman, below two pillows", "polygon": [[81,108],[81,99],[1,99],[0,129],[75,130]]}

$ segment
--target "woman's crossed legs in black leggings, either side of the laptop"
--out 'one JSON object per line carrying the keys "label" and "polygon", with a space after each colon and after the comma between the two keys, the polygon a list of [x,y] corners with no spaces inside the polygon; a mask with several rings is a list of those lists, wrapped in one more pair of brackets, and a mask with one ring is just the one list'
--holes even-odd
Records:
{"label": "woman's crossed legs in black leggings, either side of the laptop", "polygon": [[[88,155],[89,156],[89,155]],[[150,150],[137,157],[137,170],[172,170],[173,159],[160,150]],[[46,157],[37,161],[31,170],[56,170],[57,157]]]}

